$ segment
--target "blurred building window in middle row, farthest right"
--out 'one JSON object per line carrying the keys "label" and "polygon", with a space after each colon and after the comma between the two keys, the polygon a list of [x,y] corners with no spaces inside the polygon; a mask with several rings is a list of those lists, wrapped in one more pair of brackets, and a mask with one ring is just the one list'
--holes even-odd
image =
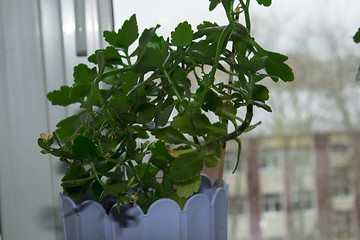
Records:
{"label": "blurred building window in middle row, farthest right", "polygon": [[331,186],[333,196],[347,196],[351,194],[351,179],[347,167],[334,167],[331,170]]}

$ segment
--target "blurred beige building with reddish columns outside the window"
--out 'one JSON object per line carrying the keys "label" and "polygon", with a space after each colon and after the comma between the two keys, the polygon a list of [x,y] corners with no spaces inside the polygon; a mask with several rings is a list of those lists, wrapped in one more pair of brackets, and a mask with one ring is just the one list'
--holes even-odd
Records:
{"label": "blurred beige building with reddish columns outside the window", "polygon": [[235,174],[229,144],[229,239],[358,239],[355,135],[243,139]]}

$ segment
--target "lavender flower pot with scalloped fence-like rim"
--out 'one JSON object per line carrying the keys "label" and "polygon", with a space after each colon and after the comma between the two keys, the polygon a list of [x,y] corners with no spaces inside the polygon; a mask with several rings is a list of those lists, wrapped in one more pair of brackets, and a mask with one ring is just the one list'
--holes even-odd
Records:
{"label": "lavender flower pot with scalloped fence-like rim", "polygon": [[147,214],[139,206],[116,206],[106,213],[96,201],[75,203],[60,194],[67,240],[226,240],[228,184],[217,188],[202,176],[197,194],[181,210],[171,199],[154,202]]}

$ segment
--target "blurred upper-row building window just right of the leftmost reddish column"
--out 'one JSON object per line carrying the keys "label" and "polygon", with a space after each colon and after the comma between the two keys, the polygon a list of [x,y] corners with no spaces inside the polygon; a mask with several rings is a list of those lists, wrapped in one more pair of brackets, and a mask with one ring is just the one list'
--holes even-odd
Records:
{"label": "blurred upper-row building window just right of the leftmost reddish column", "polygon": [[280,169],[284,152],[279,148],[265,148],[260,153],[260,168],[264,170]]}

